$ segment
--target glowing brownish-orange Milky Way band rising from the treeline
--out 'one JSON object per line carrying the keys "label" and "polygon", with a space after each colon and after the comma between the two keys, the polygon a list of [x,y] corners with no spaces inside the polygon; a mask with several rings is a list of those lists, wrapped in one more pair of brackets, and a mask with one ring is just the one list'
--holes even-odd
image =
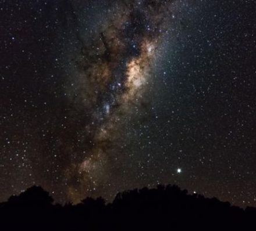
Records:
{"label": "glowing brownish-orange Milky Way band rising from the treeline", "polygon": [[[78,178],[81,196],[84,190],[91,192],[105,185],[111,175],[108,171],[112,159],[122,155],[115,146],[126,145],[118,140],[123,121],[132,116],[133,107],[138,110],[143,104],[147,106],[151,69],[162,35],[168,32],[171,3],[118,2],[118,12],[113,13],[92,44],[83,47],[77,104],[88,110],[91,124],[84,129],[91,147],[83,161],[69,172],[73,176],[74,171]],[[79,198],[80,192],[77,186],[70,188],[72,200]]]}

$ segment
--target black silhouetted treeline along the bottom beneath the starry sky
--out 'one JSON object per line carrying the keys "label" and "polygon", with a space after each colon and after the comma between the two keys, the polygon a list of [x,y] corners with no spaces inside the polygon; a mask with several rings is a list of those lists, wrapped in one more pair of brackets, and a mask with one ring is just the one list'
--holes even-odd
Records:
{"label": "black silhouetted treeline along the bottom beneath the starry sky", "polygon": [[0,219],[0,230],[256,229],[255,208],[190,195],[175,185],[118,193],[109,204],[85,198],[77,205],[54,204],[48,192],[33,186],[1,203]]}

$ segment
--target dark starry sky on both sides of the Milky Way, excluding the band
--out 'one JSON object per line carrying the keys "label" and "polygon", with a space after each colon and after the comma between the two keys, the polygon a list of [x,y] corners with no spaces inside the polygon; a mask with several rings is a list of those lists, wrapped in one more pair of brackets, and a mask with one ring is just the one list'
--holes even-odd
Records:
{"label": "dark starry sky on both sides of the Milky Way, excluding the band", "polygon": [[[119,5],[0,1],[1,201],[34,184],[61,202],[76,190],[67,172],[84,158],[91,122],[75,100],[77,60]],[[111,165],[98,169],[108,178],[86,196],[111,200],[125,189],[175,183],[255,206],[255,5],[172,4],[147,105],[122,118]]]}

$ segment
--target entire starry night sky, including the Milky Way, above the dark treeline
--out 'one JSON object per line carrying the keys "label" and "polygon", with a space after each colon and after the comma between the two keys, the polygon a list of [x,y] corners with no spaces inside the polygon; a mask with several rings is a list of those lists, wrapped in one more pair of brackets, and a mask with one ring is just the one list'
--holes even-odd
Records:
{"label": "entire starry night sky, including the Milky Way, above the dark treeline", "polygon": [[135,187],[256,206],[254,0],[0,0],[0,201]]}

